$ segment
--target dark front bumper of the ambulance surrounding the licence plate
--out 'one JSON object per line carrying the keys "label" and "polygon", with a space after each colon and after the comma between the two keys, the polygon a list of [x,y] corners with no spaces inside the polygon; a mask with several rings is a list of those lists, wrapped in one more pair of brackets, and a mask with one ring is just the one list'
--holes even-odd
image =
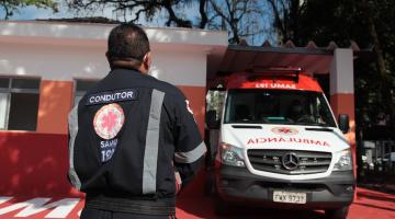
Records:
{"label": "dark front bumper of the ambulance surrounding the licence plate", "polygon": [[[245,168],[223,165],[216,174],[216,191],[227,203],[249,206],[332,209],[351,205],[354,196],[352,171],[332,172],[324,178],[287,181],[251,174]],[[274,201],[276,192],[305,194],[305,204]]]}

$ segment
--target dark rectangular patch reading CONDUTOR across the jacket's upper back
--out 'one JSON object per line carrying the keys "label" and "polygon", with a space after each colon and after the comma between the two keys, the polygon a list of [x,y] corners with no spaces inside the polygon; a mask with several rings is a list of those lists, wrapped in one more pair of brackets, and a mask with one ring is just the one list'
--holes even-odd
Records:
{"label": "dark rectangular patch reading CONDUTOR across the jacket's upper back", "polygon": [[137,100],[136,89],[125,89],[88,95],[86,105],[106,104],[121,101]]}

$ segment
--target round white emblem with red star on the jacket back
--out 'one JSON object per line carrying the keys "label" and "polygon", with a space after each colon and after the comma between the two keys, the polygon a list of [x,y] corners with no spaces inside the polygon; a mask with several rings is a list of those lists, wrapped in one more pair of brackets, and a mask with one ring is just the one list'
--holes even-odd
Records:
{"label": "round white emblem with red star on the jacket back", "polygon": [[102,106],[94,115],[93,128],[102,139],[109,140],[114,138],[123,127],[125,114],[122,107],[116,104]]}

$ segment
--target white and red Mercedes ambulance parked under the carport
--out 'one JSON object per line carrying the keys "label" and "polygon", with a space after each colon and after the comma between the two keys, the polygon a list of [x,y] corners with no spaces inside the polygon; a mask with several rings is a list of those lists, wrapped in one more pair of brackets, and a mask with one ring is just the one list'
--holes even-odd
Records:
{"label": "white and red Mercedes ambulance parked under the carport", "polygon": [[210,111],[206,120],[218,129],[212,172],[217,212],[242,204],[346,218],[356,187],[343,136],[349,118],[336,122],[317,81],[298,71],[242,72],[225,87],[222,110]]}

